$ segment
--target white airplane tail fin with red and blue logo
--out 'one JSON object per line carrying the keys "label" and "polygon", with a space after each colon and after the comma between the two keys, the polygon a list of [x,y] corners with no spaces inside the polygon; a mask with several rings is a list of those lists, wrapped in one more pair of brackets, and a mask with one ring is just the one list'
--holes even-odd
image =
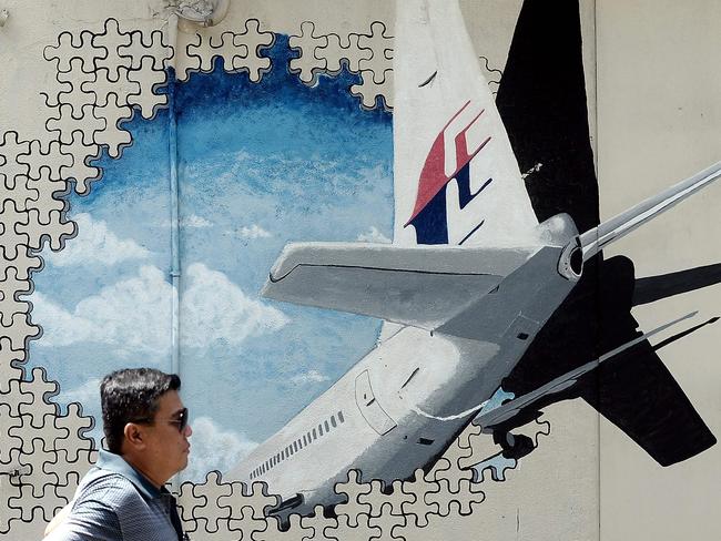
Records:
{"label": "white airplane tail fin with red and blue logo", "polygon": [[526,244],[538,220],[458,2],[397,2],[394,48],[394,243]]}

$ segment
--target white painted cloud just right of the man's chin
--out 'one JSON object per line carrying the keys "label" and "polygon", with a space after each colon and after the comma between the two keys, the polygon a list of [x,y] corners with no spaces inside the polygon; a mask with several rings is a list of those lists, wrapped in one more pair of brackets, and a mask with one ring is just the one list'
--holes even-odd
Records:
{"label": "white painted cloud just right of the man's chin", "polygon": [[223,430],[210,417],[191,418],[191,455],[184,480],[202,481],[212,470],[227,471],[251,452],[257,443],[238,432]]}

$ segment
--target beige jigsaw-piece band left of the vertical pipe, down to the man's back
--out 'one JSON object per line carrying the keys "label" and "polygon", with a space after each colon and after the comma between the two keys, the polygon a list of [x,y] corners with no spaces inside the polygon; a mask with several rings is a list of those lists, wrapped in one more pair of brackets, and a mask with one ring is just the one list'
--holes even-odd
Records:
{"label": "beige jigsaw-piece band left of the vertical pipe, down to the man's back", "polygon": [[91,161],[102,149],[118,157],[131,143],[122,122],[135,110],[151,118],[166,104],[158,89],[166,83],[169,57],[162,32],[123,31],[114,19],[62,32],[44,50],[55,68],[44,93],[51,140],[0,133],[0,534],[13,522],[16,534],[24,521],[49,520],[94,461],[85,436],[93,420],[79,405],[59,415],[57,384],[43,370],[26,377],[20,368],[29,340],[40,336],[24,296],[42,267],[38,253],[45,245],[61,249],[75,234],[65,217],[69,181],[88,193],[100,177]]}

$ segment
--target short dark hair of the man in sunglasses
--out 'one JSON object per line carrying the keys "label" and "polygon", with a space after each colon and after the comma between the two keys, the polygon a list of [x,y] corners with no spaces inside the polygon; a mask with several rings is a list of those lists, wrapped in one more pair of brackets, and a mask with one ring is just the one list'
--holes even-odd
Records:
{"label": "short dark hair of the man in sunglasses", "polygon": [[179,376],[154,368],[124,368],[105,376],[100,384],[100,402],[108,450],[120,455],[125,425],[152,419],[160,397],[180,386]]}

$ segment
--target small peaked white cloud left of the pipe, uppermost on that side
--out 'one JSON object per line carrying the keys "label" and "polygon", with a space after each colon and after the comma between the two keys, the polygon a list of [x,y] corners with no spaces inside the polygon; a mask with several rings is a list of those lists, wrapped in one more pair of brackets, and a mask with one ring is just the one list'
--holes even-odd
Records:
{"label": "small peaked white cloud left of the pipe, uppermost on that side", "polygon": [[134,241],[119,238],[108,224],[94,221],[90,214],[73,216],[78,224],[78,236],[65,243],[60,252],[50,252],[45,261],[58,267],[100,264],[104,266],[131,259],[148,259],[150,252]]}

